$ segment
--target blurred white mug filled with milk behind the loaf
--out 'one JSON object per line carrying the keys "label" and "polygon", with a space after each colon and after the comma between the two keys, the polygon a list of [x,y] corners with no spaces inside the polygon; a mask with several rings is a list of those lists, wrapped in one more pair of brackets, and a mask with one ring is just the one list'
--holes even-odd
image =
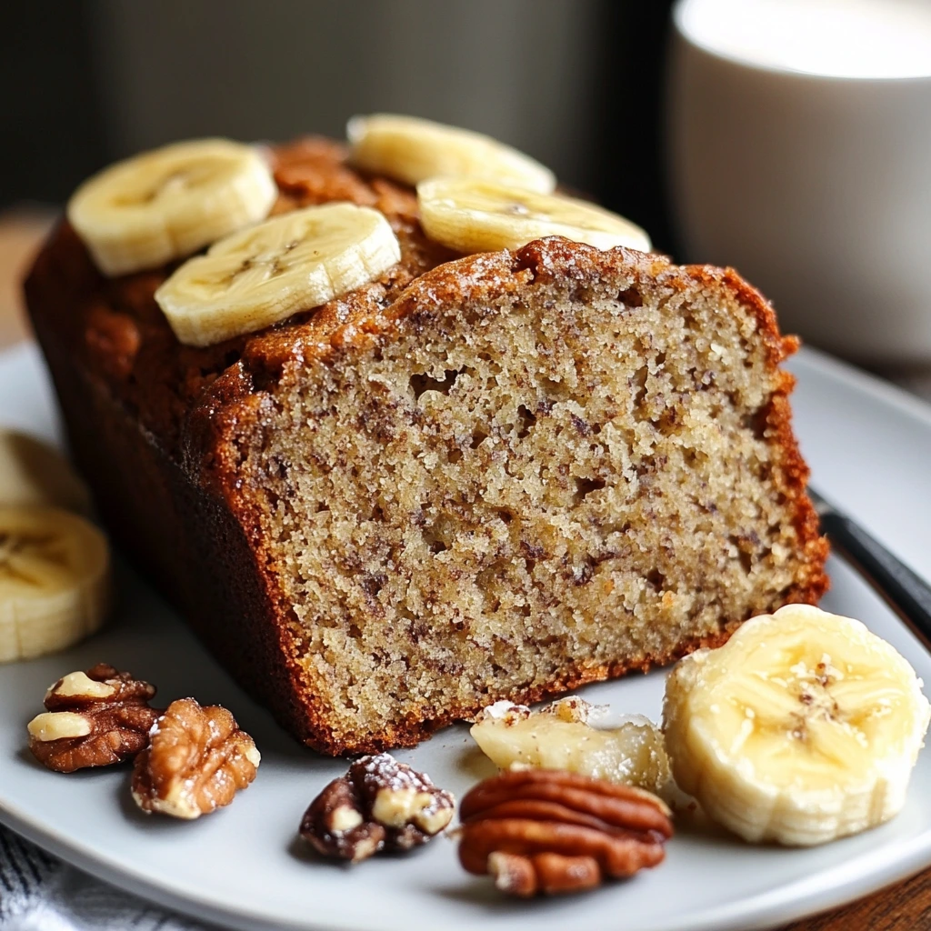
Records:
{"label": "blurred white mug filled with milk behind the loaf", "polygon": [[813,344],[931,362],[931,2],[680,0],[673,20],[689,261],[734,266]]}

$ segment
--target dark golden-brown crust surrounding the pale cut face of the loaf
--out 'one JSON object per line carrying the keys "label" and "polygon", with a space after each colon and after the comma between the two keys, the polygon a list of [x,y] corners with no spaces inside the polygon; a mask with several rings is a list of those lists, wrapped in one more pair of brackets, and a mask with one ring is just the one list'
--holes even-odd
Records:
{"label": "dark golden-brown crust surrounding the pale cut face of the loaf", "polygon": [[[474,716],[483,703],[441,708],[429,721],[408,717],[377,735],[334,734],[290,633],[292,608],[277,584],[275,554],[241,488],[250,479],[236,468],[240,438],[274,403],[267,389],[299,378],[312,360],[325,362],[347,347],[390,339],[399,321],[416,323],[419,315],[465,300],[500,297],[534,279],[574,281],[581,289],[619,267],[676,289],[697,283],[728,290],[756,318],[772,371],[797,342],[780,336],[770,305],[731,269],[681,268],[660,256],[600,252],[560,239],[516,253],[456,259],[425,238],[411,190],[347,168],[334,143],[298,142],[277,149],[275,157],[281,191],[276,209],[331,199],[375,206],[398,234],[401,262],[370,285],[268,331],[196,349],[177,343],[153,299],[170,269],[105,280],[74,232],[61,224],[26,283],[28,305],[75,456],[95,485],[104,518],[203,641],[308,746],[331,754],[411,746]],[[802,576],[785,599],[815,602],[828,585],[827,543],[804,491],[807,467],[791,431],[791,385],[783,373],[764,412],[764,429],[780,451],[779,492],[791,505],[804,556]],[[682,641],[674,653],[610,665],[570,663],[558,679],[509,697],[533,702],[666,665],[699,646],[726,641],[744,619],[730,619],[712,638]]]}

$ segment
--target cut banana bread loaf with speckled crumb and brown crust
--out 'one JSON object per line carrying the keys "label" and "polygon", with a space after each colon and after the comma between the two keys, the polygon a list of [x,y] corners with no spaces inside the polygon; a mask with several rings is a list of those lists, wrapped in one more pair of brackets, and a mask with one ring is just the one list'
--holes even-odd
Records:
{"label": "cut banana bread loaf with speckled crumb and brown crust", "polygon": [[733,271],[559,238],[456,258],[338,146],[276,157],[278,210],[376,207],[401,262],[206,349],[165,271],[106,280],[67,225],[26,290],[117,540],[294,735],[411,745],[818,599],[795,341]]}

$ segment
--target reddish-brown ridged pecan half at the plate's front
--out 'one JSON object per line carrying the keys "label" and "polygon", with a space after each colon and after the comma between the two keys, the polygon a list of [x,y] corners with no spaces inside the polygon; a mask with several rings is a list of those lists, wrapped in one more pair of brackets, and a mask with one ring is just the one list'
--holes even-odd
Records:
{"label": "reddish-brown ridged pecan half at the plate's front", "polygon": [[560,770],[502,773],[468,792],[459,860],[513,896],[578,892],[663,861],[668,808],[642,789]]}

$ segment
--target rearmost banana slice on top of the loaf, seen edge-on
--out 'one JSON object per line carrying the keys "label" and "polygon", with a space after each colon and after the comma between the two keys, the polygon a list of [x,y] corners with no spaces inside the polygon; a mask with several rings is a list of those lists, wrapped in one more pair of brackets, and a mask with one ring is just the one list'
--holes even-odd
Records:
{"label": "rearmost banana slice on top of the loaf, seen edge-on", "polygon": [[375,114],[354,116],[346,136],[355,165],[408,184],[438,175],[466,175],[544,194],[556,187],[556,175],[529,155],[468,129]]}

